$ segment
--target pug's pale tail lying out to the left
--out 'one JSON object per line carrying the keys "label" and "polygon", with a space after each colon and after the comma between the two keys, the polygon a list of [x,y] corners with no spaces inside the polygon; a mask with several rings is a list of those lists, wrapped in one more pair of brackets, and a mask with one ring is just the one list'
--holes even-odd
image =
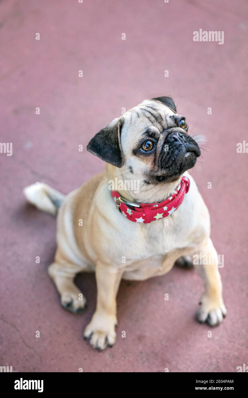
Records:
{"label": "pug's pale tail lying out to the left", "polygon": [[23,193],[32,205],[52,215],[57,214],[64,200],[62,193],[44,183],[29,185],[23,189]]}

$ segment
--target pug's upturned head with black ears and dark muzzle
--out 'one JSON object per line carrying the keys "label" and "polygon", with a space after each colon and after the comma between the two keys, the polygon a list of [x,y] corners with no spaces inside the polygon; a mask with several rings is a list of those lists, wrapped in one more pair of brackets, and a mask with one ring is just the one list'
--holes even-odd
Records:
{"label": "pug's upturned head with black ears and dark muzzle", "polygon": [[159,97],[114,119],[90,140],[87,149],[146,183],[170,182],[192,168],[201,154],[187,131],[172,98]]}

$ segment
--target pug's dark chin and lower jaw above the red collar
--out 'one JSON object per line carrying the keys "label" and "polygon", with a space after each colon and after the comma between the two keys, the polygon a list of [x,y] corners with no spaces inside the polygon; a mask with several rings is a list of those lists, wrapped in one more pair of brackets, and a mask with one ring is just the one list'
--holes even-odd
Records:
{"label": "pug's dark chin and lower jaw above the red collar", "polygon": [[197,154],[193,151],[188,151],[184,154],[182,159],[178,162],[178,164],[173,164],[160,172],[156,172],[154,174],[149,173],[146,176],[145,181],[150,184],[158,184],[162,182],[173,182],[176,181],[184,172],[191,169],[195,166],[197,160]]}

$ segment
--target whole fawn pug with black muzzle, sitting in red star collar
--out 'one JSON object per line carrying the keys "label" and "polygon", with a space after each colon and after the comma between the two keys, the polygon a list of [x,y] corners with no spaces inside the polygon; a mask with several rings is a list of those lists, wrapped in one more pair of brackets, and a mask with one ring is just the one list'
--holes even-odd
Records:
{"label": "whole fawn pug with black muzzle, sitting in red star collar", "polygon": [[[107,165],[80,188],[67,196],[43,183],[24,189],[30,203],[57,214],[57,251],[48,273],[66,310],[86,308],[76,274],[96,273],[96,311],[84,338],[99,350],[115,343],[121,279],[164,275],[176,262],[189,265],[194,255],[208,259],[196,265],[205,286],[197,320],[219,324],[227,310],[209,212],[186,172],[201,152],[172,98],[143,101],[100,130],[87,149]],[[117,188],[110,190],[109,181]]]}

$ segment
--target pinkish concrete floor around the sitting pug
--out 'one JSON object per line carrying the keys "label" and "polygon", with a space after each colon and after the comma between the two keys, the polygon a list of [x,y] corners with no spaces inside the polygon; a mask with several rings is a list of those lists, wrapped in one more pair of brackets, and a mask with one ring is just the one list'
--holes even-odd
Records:
{"label": "pinkish concrete floor around the sitting pug", "polygon": [[[26,372],[235,372],[248,364],[248,154],[236,152],[248,140],[247,2],[5,0],[0,14],[0,140],[13,143],[12,156],[0,154],[0,365]],[[199,29],[224,31],[224,44],[193,42]],[[193,133],[211,142],[193,176],[225,256],[228,316],[208,338],[209,326],[194,318],[203,291],[195,271],[174,267],[145,282],[125,281],[117,343],[99,353],[82,339],[96,304],[94,275],[77,278],[86,313],[65,312],[47,275],[55,220],[26,205],[22,189],[36,181],[64,193],[78,187],[104,167],[78,145],[86,148],[123,107],[162,95],[171,95]]]}

